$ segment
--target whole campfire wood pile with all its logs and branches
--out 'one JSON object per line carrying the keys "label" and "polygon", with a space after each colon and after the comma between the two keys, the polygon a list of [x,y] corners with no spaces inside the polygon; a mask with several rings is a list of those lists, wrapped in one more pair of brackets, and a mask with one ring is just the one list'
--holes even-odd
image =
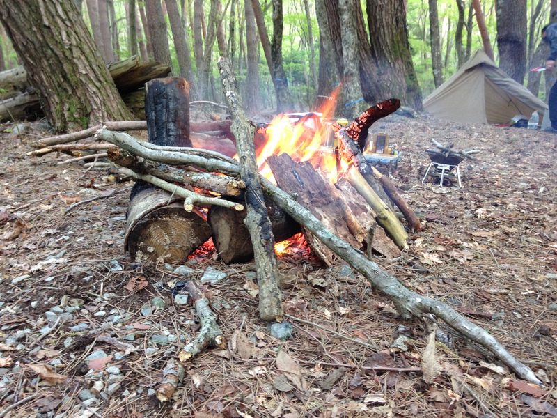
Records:
{"label": "whole campfire wood pile with all its logs and branches", "polygon": [[[104,123],[84,132],[43,139],[34,144],[39,149],[30,154],[86,148],[70,143],[94,135],[97,142],[89,144],[93,155],[106,154],[120,167],[114,174],[121,180],[136,180],[125,237],[130,256],[142,263],[181,261],[212,236],[223,261],[255,259],[262,320],[283,320],[275,237],[290,238],[301,230],[325,264],[330,265],[336,258],[349,263],[391,298],[402,318],[433,315],[444,320],[455,332],[492,352],[521,378],[540,383],[531,369],[482,327],[448,304],[409,290],[361,252],[367,247],[369,252],[374,249],[393,258],[407,250],[407,230],[420,229],[419,219],[396,193],[395,185],[386,176],[374,173],[359,148],[370,125],[398,109],[398,100],[371,107],[350,127],[334,125],[338,158],[349,166],[336,184],[310,162],[299,162],[283,153],[266,161],[276,180],[274,185],[258,173],[254,142],[261,140],[261,132],[256,132],[237,100],[235,78],[226,59],[219,61],[219,70],[230,122],[203,127],[190,124],[189,117],[185,121],[175,111],[178,104],[183,109],[187,101],[187,82],[155,79],[146,86],[147,123]],[[149,102],[157,105],[148,106]],[[162,120],[166,124],[160,123]],[[121,132],[147,127],[148,142]],[[240,155],[238,160],[233,152]],[[405,217],[406,229],[391,202]],[[194,299],[204,301],[196,302],[196,310],[209,325],[203,327],[205,334],[195,347],[180,351],[180,361],[189,361],[206,346],[223,344],[203,290],[192,288],[191,292],[197,295]],[[169,364],[168,370],[172,376],[179,373],[174,364]],[[168,392],[167,385],[160,399],[168,398],[171,390]]]}

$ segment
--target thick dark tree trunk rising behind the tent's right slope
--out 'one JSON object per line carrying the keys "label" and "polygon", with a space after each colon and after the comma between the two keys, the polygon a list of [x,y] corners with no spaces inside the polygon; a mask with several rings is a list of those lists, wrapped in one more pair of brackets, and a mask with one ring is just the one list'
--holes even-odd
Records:
{"label": "thick dark tree trunk rising behind the tent's right slope", "polygon": [[526,74],[527,10],[526,0],[497,2],[499,68],[519,84],[524,83]]}

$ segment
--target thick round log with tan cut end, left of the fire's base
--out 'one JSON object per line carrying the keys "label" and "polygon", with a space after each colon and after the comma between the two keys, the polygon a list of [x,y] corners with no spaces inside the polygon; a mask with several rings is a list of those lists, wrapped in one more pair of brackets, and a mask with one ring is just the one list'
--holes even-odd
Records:
{"label": "thick round log with tan cut end, left of the fire's base", "polygon": [[211,236],[201,214],[155,187],[134,189],[127,212],[125,249],[139,263],[181,263]]}

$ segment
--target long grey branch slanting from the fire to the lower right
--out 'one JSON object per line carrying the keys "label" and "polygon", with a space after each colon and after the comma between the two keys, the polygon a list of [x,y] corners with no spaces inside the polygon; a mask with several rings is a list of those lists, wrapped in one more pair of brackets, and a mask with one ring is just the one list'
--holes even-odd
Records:
{"label": "long grey branch slanting from the fire to the lower right", "polygon": [[439,300],[419,295],[403,286],[400,281],[391,274],[381,270],[377,264],[368,260],[361,251],[358,251],[340,240],[333,233],[327,231],[324,226],[314,217],[311,212],[306,210],[297,201],[278,187],[272,185],[269,180],[260,177],[263,190],[270,199],[278,204],[285,212],[292,216],[299,224],[305,226],[317,238],[322,240],[338,256],[350,264],[354,270],[363,274],[370,283],[379,291],[385,293],[395,304],[398,312],[403,318],[412,316],[424,316],[434,314],[443,319],[450,327],[457,330],[471,341],[475,341],[480,346],[487,348],[498,359],[507,364],[517,373],[517,376],[533,382],[537,385],[542,382],[535,376],[533,371],[513,357],[491,334],[486,332],[483,327],[471,323],[464,316],[460,315],[448,304]]}

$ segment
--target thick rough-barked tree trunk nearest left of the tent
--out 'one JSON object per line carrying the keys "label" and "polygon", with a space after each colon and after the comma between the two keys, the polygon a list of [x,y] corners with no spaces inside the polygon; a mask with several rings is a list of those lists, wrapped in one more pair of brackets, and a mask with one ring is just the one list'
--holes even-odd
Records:
{"label": "thick rough-barked tree trunk nearest left of the tent", "polygon": [[422,109],[421,90],[412,63],[403,0],[367,0],[371,56],[379,73],[383,98],[400,98],[402,104]]}

